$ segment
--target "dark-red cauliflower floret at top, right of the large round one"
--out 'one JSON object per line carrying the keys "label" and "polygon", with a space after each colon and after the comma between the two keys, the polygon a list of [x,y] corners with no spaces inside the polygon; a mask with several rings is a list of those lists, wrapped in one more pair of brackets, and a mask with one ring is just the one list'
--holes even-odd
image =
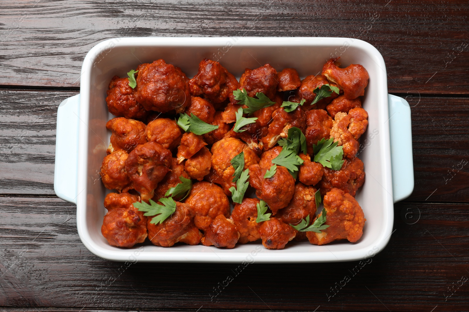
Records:
{"label": "dark-red cauliflower floret at top, right of the large round one", "polygon": [[203,95],[213,103],[222,103],[227,99],[234,103],[233,91],[239,88],[239,83],[219,62],[204,58],[199,63],[197,75],[189,80],[189,86],[190,94]]}

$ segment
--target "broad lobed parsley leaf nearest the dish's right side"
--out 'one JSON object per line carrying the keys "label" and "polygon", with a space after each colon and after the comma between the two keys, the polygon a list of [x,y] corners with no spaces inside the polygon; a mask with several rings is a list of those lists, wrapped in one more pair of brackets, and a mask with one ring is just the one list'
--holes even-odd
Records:
{"label": "broad lobed parsley leaf nearest the dish's right side", "polygon": [[324,167],[333,170],[340,170],[344,160],[342,156],[344,151],[342,146],[337,146],[338,142],[334,142],[334,138],[322,138],[317,145],[313,144],[314,160]]}

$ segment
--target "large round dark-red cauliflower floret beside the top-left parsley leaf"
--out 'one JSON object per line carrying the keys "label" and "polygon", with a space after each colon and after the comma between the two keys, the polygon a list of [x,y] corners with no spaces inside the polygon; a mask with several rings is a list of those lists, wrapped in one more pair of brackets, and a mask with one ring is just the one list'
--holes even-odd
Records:
{"label": "large round dark-red cauliflower floret beside the top-left parsley leaf", "polygon": [[146,110],[180,113],[189,106],[189,80],[179,67],[159,59],[137,70],[135,98]]}

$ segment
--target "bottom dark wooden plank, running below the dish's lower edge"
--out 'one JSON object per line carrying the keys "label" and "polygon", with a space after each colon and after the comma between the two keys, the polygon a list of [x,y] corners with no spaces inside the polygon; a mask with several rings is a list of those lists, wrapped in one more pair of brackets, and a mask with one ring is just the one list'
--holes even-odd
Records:
{"label": "bottom dark wooden plank, running below the dish's lower edge", "polygon": [[[0,196],[0,206],[0,306],[9,311],[62,306],[429,312],[435,306],[463,311],[469,300],[469,281],[456,286],[469,276],[469,204],[396,204],[391,241],[368,263],[253,263],[239,275],[236,264],[137,260],[122,267],[83,246],[74,205],[53,197]],[[233,281],[215,297],[213,288],[227,276]],[[331,287],[337,287],[333,297]]]}

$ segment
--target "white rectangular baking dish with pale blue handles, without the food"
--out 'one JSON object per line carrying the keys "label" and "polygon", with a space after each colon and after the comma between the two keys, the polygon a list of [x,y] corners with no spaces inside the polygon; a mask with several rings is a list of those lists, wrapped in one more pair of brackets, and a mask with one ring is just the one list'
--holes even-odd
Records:
{"label": "white rectangular baking dish with pale blue handles, without the food", "polygon": [[[296,68],[303,79],[320,73],[331,57],[340,56],[342,66],[363,65],[370,80],[363,108],[369,125],[361,138],[359,157],[366,181],[356,199],[367,221],[356,243],[325,246],[290,242],[283,250],[268,250],[260,242],[234,249],[205,246],[153,245],[123,249],[110,246],[100,227],[106,210],[106,190],[99,169],[106,156],[110,134],[105,124],[106,90],[114,75],[141,63],[163,58],[192,77],[202,58],[218,60],[238,79],[244,68],[270,63],[278,71]],[[185,262],[328,262],[353,261],[381,251],[393,232],[393,203],[410,195],[414,187],[410,108],[397,96],[387,94],[386,66],[371,44],[352,38],[320,37],[168,37],[113,38],[94,46],[83,61],[80,94],[63,101],[57,114],[54,190],[57,196],[76,203],[78,234],[83,244],[99,257],[113,261]]]}

